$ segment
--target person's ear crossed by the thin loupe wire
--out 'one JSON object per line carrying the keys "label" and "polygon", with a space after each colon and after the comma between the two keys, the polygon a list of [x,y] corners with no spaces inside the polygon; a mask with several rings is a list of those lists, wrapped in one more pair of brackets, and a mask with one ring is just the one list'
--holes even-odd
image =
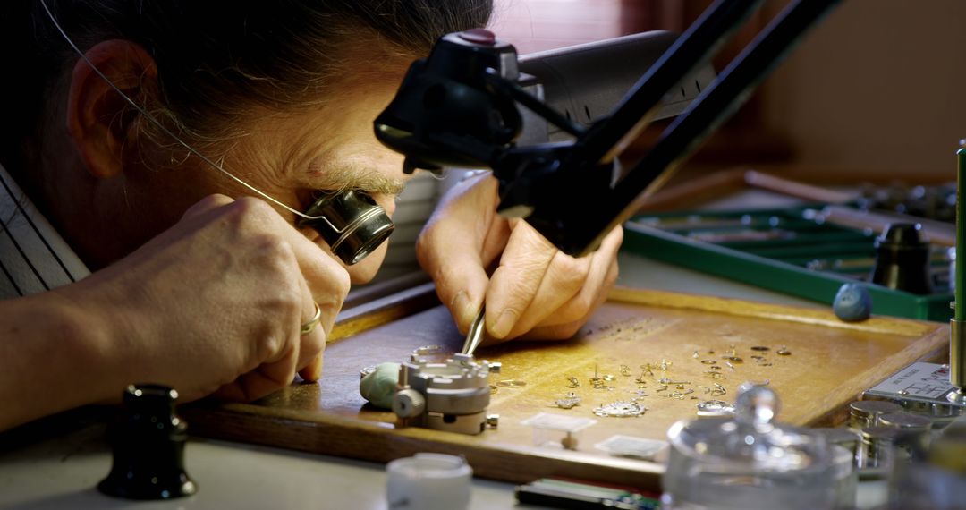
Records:
{"label": "person's ear crossed by the thin loupe wire", "polygon": [[137,113],[91,65],[139,104],[154,89],[157,68],[143,47],[129,41],[99,42],[85,55],[87,60],[79,59],[71,73],[67,129],[91,175],[106,179],[124,171],[123,154],[132,142]]}

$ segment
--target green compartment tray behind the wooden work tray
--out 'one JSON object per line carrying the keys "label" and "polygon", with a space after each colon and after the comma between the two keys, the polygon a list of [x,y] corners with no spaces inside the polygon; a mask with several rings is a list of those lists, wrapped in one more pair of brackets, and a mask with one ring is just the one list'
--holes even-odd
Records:
{"label": "green compartment tray behind the wooden work tray", "polygon": [[952,318],[947,248],[933,249],[933,294],[875,285],[867,281],[875,234],[824,222],[821,207],[639,215],[624,225],[624,249],[829,306],[842,284],[863,281],[873,314]]}

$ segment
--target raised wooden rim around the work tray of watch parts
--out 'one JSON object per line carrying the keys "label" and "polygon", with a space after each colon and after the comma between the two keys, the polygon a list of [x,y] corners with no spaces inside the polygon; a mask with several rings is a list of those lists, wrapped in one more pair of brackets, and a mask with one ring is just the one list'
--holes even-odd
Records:
{"label": "raised wooden rim around the work tray of watch parts", "polygon": [[[823,309],[630,289],[614,290],[611,300],[647,306],[705,310],[763,320],[910,335],[919,339],[902,351],[901,356],[893,357],[901,357],[907,362],[942,362],[948,356],[949,326],[936,323],[872,318],[864,323],[847,324],[838,321],[833,314]],[[430,284],[406,291],[402,296],[386,297],[368,303],[360,307],[363,308],[361,310],[350,310],[340,316],[331,342],[345,341],[358,332],[387,325],[438,302]],[[824,403],[826,407],[823,408],[820,403],[816,404],[814,410],[805,411],[805,415],[809,416],[807,424],[829,426],[841,423],[849,402],[858,399],[862,390],[888,377],[905,363],[893,360],[888,366],[882,365],[880,371],[865,374],[857,382],[858,386],[842,388],[839,394],[829,395]],[[295,399],[300,392],[311,393],[318,390],[318,384],[294,384],[283,391],[287,391],[288,396]],[[827,404],[832,401],[838,404],[828,409]],[[419,452],[463,455],[473,467],[476,476],[514,483],[524,483],[546,476],[563,476],[659,492],[660,475],[663,472],[663,465],[658,463],[580,451],[487,443],[479,436],[416,427],[396,428],[391,423],[325,412],[307,416],[304,411],[276,405],[203,402],[184,406],[180,412],[187,419],[189,431],[194,435],[380,463],[410,457]]]}

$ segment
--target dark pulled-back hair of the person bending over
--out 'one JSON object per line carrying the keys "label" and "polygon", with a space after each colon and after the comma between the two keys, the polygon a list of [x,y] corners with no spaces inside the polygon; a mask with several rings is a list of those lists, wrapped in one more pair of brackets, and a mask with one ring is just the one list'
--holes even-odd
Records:
{"label": "dark pulled-back hair of the person bending over", "polygon": [[[8,0],[0,25],[24,79],[8,83],[21,122],[76,54],[38,0]],[[253,104],[285,111],[318,99],[353,59],[346,42],[419,56],[442,34],[483,26],[492,0],[46,0],[82,49],[108,40],[142,45],[156,61],[156,100],[146,106],[195,142],[216,141]],[[26,17],[22,17],[26,16]],[[18,28],[18,30],[17,30]],[[24,30],[26,28],[26,30]],[[382,42],[382,43],[380,43]],[[10,49],[14,48],[14,49]],[[11,62],[8,59],[8,62]],[[14,68],[16,69],[16,68]],[[69,69],[69,68],[68,68]],[[9,78],[4,81],[8,81]],[[248,108],[250,109],[250,108]],[[143,128],[148,128],[143,125]]]}

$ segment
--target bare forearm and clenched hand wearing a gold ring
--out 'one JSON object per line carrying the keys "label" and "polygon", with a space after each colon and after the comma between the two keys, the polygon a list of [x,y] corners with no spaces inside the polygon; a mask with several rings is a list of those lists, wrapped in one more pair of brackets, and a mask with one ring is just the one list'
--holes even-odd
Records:
{"label": "bare forearm and clenched hand wearing a gold ring", "polygon": [[[118,263],[0,302],[0,429],[115,401],[130,382],[252,400],[318,379],[345,269],[270,206],[213,196]],[[315,312],[323,321],[302,335]]]}

